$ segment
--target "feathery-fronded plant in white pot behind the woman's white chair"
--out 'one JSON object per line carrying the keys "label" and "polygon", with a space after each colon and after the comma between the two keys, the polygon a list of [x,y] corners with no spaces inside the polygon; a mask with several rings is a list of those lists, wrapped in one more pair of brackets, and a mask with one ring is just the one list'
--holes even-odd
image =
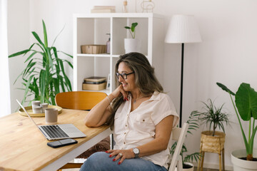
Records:
{"label": "feathery-fronded plant in white pot behind the woman's white chair", "polygon": [[[193,133],[191,131],[199,128],[198,115],[199,114],[196,110],[191,112],[188,120],[186,121],[186,123],[188,123],[187,134],[193,135]],[[176,142],[174,142],[173,145],[171,146],[171,155],[173,155],[173,153],[175,152],[175,149],[176,149]],[[190,155],[184,156],[184,152],[188,152],[185,144],[183,144],[182,149],[181,149],[181,154],[180,154],[182,157],[183,170],[184,171],[193,171],[193,163],[191,163],[191,162],[193,162],[193,160],[196,160],[196,162],[197,162],[197,160],[200,157],[200,153],[193,152]]]}

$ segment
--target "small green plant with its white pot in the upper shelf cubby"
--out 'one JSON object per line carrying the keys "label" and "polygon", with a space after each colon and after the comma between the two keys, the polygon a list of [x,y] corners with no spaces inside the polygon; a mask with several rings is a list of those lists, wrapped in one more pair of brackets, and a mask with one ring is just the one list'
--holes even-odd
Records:
{"label": "small green plant with its white pot in the upper shelf cubby", "polygon": [[137,25],[138,25],[138,23],[132,23],[131,27],[129,27],[129,26],[124,27],[129,30],[129,33],[131,33],[131,38],[124,39],[125,53],[140,52],[140,50],[141,50],[141,41],[136,39],[136,26]]}

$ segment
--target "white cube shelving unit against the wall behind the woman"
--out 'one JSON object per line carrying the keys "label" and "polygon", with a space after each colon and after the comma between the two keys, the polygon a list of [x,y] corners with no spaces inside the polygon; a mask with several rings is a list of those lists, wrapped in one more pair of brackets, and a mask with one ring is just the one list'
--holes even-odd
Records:
{"label": "white cube shelving unit against the wall behind the woman", "polygon": [[[124,38],[130,38],[124,26],[138,22],[136,38],[141,39],[141,53],[156,68],[156,76],[163,83],[163,16],[151,13],[74,14],[74,90],[82,90],[84,78],[111,76],[109,94],[116,88],[114,67],[125,53]],[[111,33],[110,54],[82,54],[81,45],[106,44]]]}

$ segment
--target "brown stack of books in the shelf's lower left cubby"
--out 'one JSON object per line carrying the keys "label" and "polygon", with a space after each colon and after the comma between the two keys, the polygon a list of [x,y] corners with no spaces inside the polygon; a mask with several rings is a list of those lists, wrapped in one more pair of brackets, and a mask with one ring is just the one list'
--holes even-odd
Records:
{"label": "brown stack of books in the shelf's lower left cubby", "polygon": [[84,78],[82,90],[104,90],[106,89],[105,77],[89,77]]}

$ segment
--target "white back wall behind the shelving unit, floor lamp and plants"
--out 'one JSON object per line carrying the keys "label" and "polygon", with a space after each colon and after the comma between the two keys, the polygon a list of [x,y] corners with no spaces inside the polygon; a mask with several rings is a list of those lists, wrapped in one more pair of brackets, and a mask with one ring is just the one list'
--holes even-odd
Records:
{"label": "white back wall behind the shelving unit, floor lamp and plants", "polygon": [[[14,0],[11,0],[14,2]],[[42,35],[41,19],[46,22],[49,34],[49,42],[59,33],[65,25],[64,31],[56,41],[56,47],[72,54],[72,14],[89,13],[94,5],[114,5],[116,11],[121,12],[122,1],[95,0],[95,1],[68,1],[68,0],[28,0],[15,1],[24,9],[15,9],[14,4],[11,14],[19,18],[18,25],[9,28],[9,38],[21,36],[25,40],[26,31],[19,28],[36,31]],[[139,7],[138,1],[138,9]],[[184,86],[183,86],[183,122],[188,118],[192,110],[201,110],[201,101],[208,98],[215,100],[217,106],[225,104],[225,110],[231,113],[231,127],[226,128],[226,166],[231,168],[231,151],[236,148],[244,148],[241,131],[231,105],[228,94],[216,86],[221,82],[236,91],[240,83],[251,83],[257,88],[257,1],[255,0],[173,0],[155,1],[154,12],[166,16],[166,28],[168,20],[173,14],[194,15],[201,31],[203,42],[185,44],[184,53]],[[29,16],[28,16],[28,7]],[[129,1],[129,11],[134,12],[135,1]],[[139,11],[139,10],[138,10]],[[22,18],[22,19],[20,19]],[[16,18],[12,18],[16,21]],[[29,21],[29,22],[28,22]],[[28,28],[29,26],[29,28]],[[17,32],[18,31],[18,32]],[[16,33],[16,35],[14,35]],[[24,33],[24,34],[23,34]],[[23,34],[23,35],[22,35]],[[52,39],[51,39],[52,38]],[[19,39],[21,40],[21,39]],[[32,39],[31,39],[32,40]],[[164,40],[163,40],[164,41]],[[19,51],[27,47],[26,43],[10,41],[9,51]],[[171,96],[179,111],[180,65],[181,45],[165,45],[164,88]],[[10,60],[14,65],[14,61]],[[21,70],[15,65],[17,70]],[[18,72],[19,73],[19,72]],[[16,78],[17,72],[11,73],[11,78]],[[72,81],[72,73],[69,74]],[[11,81],[11,84],[13,82]],[[14,93],[12,94],[14,98]],[[12,101],[12,103],[14,103]],[[246,127],[246,125],[244,125]],[[205,127],[201,130],[207,129]],[[201,131],[188,136],[186,144],[190,152],[199,150]],[[218,165],[218,155],[207,153],[205,164]]]}

